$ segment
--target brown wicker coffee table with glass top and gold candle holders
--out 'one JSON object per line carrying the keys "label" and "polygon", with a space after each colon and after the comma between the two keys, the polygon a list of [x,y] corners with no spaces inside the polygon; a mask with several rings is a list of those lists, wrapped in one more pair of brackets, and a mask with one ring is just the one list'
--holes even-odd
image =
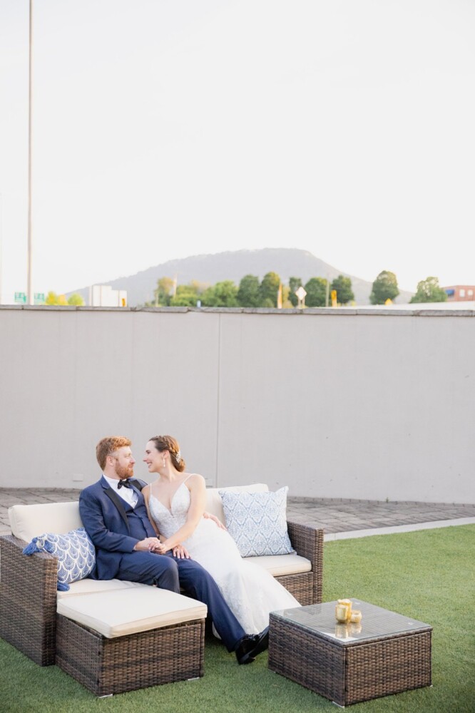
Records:
{"label": "brown wicker coffee table with glass top and gold candle holders", "polygon": [[361,624],[338,624],[337,602],[270,615],[269,668],[339,706],[431,685],[432,627],[353,599]]}

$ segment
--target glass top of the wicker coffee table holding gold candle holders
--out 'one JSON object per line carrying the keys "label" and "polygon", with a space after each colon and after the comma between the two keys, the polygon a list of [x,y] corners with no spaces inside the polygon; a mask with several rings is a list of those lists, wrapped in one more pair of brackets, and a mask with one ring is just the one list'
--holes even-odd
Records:
{"label": "glass top of the wicker coffee table holding gold candle holders", "polygon": [[408,632],[430,631],[431,625],[424,624],[402,614],[391,612],[368,602],[348,597],[352,600],[353,610],[362,612],[359,624],[340,624],[335,620],[334,607],[337,602],[312,604],[307,607],[284,609],[272,612],[273,615],[289,622],[295,622],[310,631],[318,632],[322,637],[347,645],[358,641],[387,639]]}

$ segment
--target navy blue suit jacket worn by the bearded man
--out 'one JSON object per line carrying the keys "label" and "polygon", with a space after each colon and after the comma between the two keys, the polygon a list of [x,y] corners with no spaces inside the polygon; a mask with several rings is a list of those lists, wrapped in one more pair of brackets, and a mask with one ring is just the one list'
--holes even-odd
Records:
{"label": "navy blue suit jacket worn by the bearded man", "polygon": [[[145,485],[145,483],[143,483]],[[143,495],[138,488],[139,501]],[[86,531],[96,547],[96,568],[93,579],[114,579],[123,553],[131,553],[138,539],[131,537],[123,500],[102,477],[84,488],[79,496],[79,512]],[[156,537],[149,520],[144,523],[147,537]]]}

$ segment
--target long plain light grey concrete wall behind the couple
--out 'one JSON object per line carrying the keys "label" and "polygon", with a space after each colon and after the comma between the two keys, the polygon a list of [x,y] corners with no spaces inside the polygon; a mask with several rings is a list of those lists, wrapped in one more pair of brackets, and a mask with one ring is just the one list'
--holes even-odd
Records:
{"label": "long plain light grey concrete wall behind the couple", "polygon": [[475,312],[0,308],[0,487],[82,488],[105,435],[210,485],[474,503]]}

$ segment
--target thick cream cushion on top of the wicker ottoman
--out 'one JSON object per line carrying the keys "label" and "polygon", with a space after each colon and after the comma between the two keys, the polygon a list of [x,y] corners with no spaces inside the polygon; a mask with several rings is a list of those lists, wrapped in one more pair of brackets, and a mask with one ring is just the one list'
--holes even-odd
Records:
{"label": "thick cream cushion on top of the wicker ottoman", "polygon": [[57,605],[58,614],[108,639],[204,619],[207,611],[203,602],[151,586],[61,597]]}

